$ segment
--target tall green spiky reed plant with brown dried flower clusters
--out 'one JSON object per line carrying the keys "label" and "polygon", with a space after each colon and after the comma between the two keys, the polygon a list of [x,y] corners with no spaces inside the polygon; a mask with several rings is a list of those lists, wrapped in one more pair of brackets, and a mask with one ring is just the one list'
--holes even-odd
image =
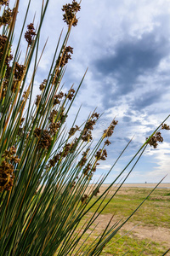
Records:
{"label": "tall green spiky reed plant with brown dried flower clusters", "polygon": [[[61,80],[73,53],[68,38],[72,26],[77,26],[80,3],[73,0],[62,8],[68,29],[63,42],[59,37],[48,75],[42,78],[40,94],[35,97],[33,87],[42,57],[42,54],[38,56],[40,34],[49,0],[42,1],[36,30],[32,22],[26,24],[29,0],[20,37],[13,49],[19,2],[16,0],[14,9],[10,9],[8,0],[0,1],[0,255],[99,255],[144,201],[126,220],[115,224],[110,221],[93,243],[88,241],[87,231],[122,187],[146,146],[150,144],[156,148],[157,142],[162,142],[160,129],[169,130],[169,126],[163,122],[147,138],[129,161],[130,171],[105,203],[108,191],[127,166],[102,195],[99,195],[99,188],[116,163],[92,187],[89,183],[100,162],[106,160],[106,148],[111,144],[109,137],[117,121],[112,120],[96,144],[93,143],[92,131],[99,113],[89,114],[86,122],[78,126],[78,111],[70,131],[65,128],[71,105],[84,79],[83,76],[77,90],[71,86],[64,93]],[[25,57],[21,63],[23,38],[27,47],[22,49]],[[44,49],[45,46],[42,53]],[[30,69],[31,79],[28,76]],[[82,222],[98,202],[96,211]]]}

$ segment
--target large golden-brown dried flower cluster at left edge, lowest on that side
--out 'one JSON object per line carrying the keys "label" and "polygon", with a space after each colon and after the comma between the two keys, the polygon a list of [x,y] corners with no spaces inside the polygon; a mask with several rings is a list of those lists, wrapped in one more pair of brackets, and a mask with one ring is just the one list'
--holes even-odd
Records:
{"label": "large golden-brown dried flower cluster at left edge, lowest on that side", "polygon": [[16,154],[16,148],[11,147],[2,155],[2,163],[0,165],[0,192],[3,189],[9,191],[14,184],[14,164],[20,162]]}

